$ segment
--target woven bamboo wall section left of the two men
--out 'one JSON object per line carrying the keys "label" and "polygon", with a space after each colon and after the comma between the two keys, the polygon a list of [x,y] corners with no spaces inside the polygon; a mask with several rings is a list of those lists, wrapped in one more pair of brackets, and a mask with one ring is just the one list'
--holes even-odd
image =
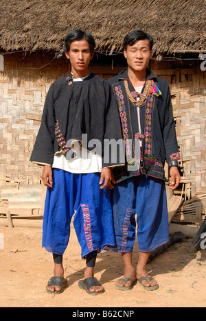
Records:
{"label": "woven bamboo wall section left of the two men", "polygon": [[41,182],[42,168],[30,163],[30,154],[49,86],[67,68],[56,64],[43,71],[30,69],[51,57],[16,56],[5,56],[5,72],[0,73],[0,186]]}

